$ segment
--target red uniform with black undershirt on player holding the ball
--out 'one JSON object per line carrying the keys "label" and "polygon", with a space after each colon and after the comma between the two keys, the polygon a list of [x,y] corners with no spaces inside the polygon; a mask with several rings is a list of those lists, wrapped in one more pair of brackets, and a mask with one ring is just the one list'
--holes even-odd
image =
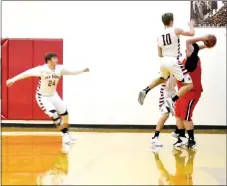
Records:
{"label": "red uniform with black undershirt on player holding the ball", "polygon": [[[192,78],[194,88],[187,92],[184,96],[180,97],[175,105],[176,117],[182,120],[191,121],[194,108],[198,103],[201,93],[203,92],[203,87],[201,83],[201,62],[197,56],[199,51],[199,46],[193,44],[194,51],[188,59],[184,59],[182,64],[187,68],[189,74]],[[181,82],[177,82],[178,89],[182,87]]]}

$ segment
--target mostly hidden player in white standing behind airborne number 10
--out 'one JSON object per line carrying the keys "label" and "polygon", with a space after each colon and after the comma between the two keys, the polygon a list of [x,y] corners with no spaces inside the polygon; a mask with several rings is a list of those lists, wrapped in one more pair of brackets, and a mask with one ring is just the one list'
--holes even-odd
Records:
{"label": "mostly hidden player in white standing behind airborne number 10", "polygon": [[163,125],[169,118],[169,107],[166,107],[165,105],[165,100],[167,98],[171,98],[176,95],[176,78],[171,75],[169,79],[166,81],[166,83],[163,83],[160,88],[160,97],[159,97],[159,110],[161,113],[161,117],[158,120],[157,126],[156,126],[156,131],[154,136],[151,139],[151,143],[154,147],[161,147],[162,144],[159,141],[159,134],[160,131],[162,130]]}

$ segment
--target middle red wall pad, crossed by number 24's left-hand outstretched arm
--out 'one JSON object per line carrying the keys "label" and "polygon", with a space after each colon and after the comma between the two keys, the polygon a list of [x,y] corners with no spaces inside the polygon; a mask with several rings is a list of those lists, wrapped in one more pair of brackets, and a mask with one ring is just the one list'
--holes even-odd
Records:
{"label": "middle red wall pad, crossed by number 24's left-hand outstretched arm", "polygon": [[[9,39],[8,41],[8,77],[32,68],[33,41]],[[16,82],[8,88],[8,118],[32,119],[32,79]]]}

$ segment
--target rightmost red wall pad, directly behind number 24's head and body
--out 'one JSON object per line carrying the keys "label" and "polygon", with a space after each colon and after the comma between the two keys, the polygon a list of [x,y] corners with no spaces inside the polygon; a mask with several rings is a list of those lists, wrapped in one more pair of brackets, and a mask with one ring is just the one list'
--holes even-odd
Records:
{"label": "rightmost red wall pad, directly behind number 24's head and body", "polygon": [[[35,39],[34,40],[34,56],[33,67],[43,65],[45,63],[44,56],[47,52],[55,52],[58,55],[59,64],[62,64],[63,60],[63,40],[62,39]],[[33,95],[37,88],[38,80],[33,79]],[[62,79],[58,84],[58,93],[62,97]],[[36,120],[48,119],[46,114],[39,108],[36,103],[36,99],[33,96],[33,118]]]}

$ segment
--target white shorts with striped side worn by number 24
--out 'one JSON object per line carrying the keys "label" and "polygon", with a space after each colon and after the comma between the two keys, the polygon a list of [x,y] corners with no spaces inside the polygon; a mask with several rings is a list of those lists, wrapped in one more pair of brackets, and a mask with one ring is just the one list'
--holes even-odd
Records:
{"label": "white shorts with striped side worn by number 24", "polygon": [[58,94],[52,96],[42,96],[41,94],[36,94],[36,101],[39,107],[47,114],[49,117],[53,116],[51,110],[56,110],[59,115],[64,114],[67,111],[66,104],[62,101]]}

